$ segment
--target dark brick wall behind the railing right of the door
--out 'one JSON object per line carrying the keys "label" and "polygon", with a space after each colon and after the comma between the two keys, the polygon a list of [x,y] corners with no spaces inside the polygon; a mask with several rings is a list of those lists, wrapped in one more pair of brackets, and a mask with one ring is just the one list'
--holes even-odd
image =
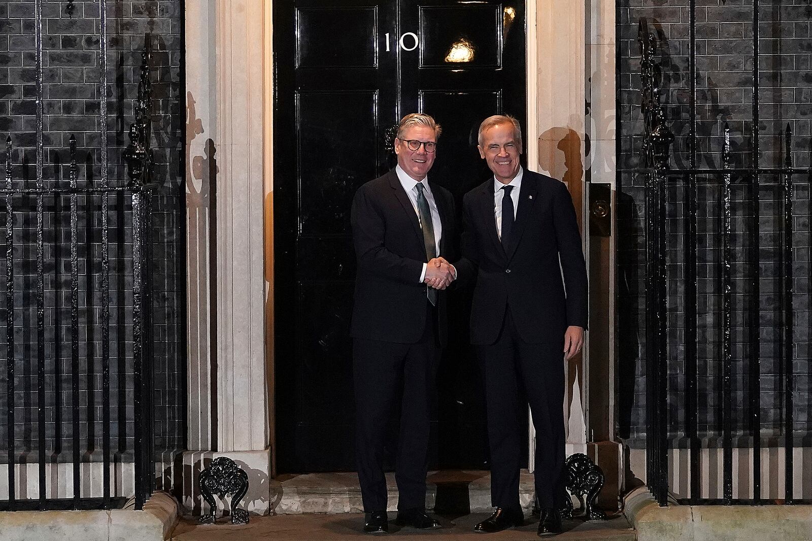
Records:
{"label": "dark brick wall behind the railing right of the door", "polygon": [[[732,167],[752,167],[753,137],[753,25],[750,0],[698,0],[697,20],[697,167],[721,167],[724,123],[731,128]],[[620,0],[618,46],[620,53],[619,175],[619,354],[620,434],[641,441],[646,432],[645,378],[645,216],[641,165],[643,126],[640,111],[640,51],[637,21],[646,17],[658,36],[663,66],[661,102],[676,141],[672,169],[689,167],[689,1]],[[759,26],[759,147],[761,167],[780,167],[789,124],[793,129],[793,161],[810,166],[810,21],[808,0],[762,0]],[[783,424],[781,349],[782,193],[775,175],[762,175],[760,222],[761,409],[765,435]],[[806,434],[812,428],[810,406],[810,178],[793,179],[793,287],[794,338],[793,429]],[[749,175],[735,175],[732,187],[733,245],[733,417],[736,431],[746,433],[749,409],[749,266],[756,254],[749,243],[754,229]],[[721,243],[722,203],[719,178],[698,179],[698,405],[699,428],[718,435],[722,405]],[[680,179],[668,191],[668,385],[672,405],[670,426],[677,436],[685,427],[685,189]]]}

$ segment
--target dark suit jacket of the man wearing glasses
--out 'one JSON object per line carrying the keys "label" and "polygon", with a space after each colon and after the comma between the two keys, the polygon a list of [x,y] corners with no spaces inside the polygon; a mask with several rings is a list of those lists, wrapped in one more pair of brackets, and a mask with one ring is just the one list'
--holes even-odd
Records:
{"label": "dark suit jacket of the man wearing glasses", "polygon": [[[451,193],[429,183],[443,236],[439,256],[453,261],[455,238],[454,199]],[[420,274],[427,261],[420,222],[400,185],[395,170],[358,188],[352,200],[352,241],[358,271],[352,309],[353,338],[414,344],[425,329],[425,283]],[[438,296],[438,335],[447,339],[445,293]]]}

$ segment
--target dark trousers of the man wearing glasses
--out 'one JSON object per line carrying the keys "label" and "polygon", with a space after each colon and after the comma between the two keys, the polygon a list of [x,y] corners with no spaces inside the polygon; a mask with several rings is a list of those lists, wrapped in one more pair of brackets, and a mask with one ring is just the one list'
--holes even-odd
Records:
{"label": "dark trousers of the man wearing glasses", "polygon": [[[426,304],[429,305],[428,301]],[[425,509],[429,409],[439,359],[436,319],[436,310],[427,309],[425,331],[417,344],[353,340],[356,460],[361,499],[367,513],[387,509],[383,447],[387,424],[401,389],[400,434],[395,459],[398,509]]]}

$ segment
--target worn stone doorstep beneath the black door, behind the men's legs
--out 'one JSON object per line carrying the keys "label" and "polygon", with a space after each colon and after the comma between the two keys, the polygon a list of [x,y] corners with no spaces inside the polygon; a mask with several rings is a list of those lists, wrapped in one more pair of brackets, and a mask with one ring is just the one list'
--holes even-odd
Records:
{"label": "worn stone doorstep beneath the black door, behind the men's legs", "polygon": [[[271,482],[271,509],[276,514],[362,513],[361,487],[354,473],[284,474]],[[442,513],[490,513],[490,472],[429,472],[425,508]],[[395,474],[387,474],[387,510],[397,510]],[[533,474],[522,470],[519,499],[525,514],[533,509]]]}

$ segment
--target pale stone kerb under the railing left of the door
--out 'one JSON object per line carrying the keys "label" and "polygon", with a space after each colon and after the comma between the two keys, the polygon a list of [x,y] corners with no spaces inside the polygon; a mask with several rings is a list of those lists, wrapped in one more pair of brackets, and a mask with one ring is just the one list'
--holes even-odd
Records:
{"label": "pale stone kerb under the railing left of the door", "polygon": [[153,494],[143,511],[6,511],[0,513],[0,541],[164,541],[178,522],[178,504]]}

